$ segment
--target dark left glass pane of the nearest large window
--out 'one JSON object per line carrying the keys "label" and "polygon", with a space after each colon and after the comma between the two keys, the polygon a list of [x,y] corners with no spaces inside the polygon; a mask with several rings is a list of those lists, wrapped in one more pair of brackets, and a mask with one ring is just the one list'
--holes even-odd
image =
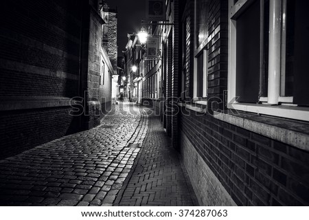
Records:
{"label": "dark left glass pane of the nearest large window", "polygon": [[260,79],[260,2],[236,20],[236,96],[238,102],[258,102]]}

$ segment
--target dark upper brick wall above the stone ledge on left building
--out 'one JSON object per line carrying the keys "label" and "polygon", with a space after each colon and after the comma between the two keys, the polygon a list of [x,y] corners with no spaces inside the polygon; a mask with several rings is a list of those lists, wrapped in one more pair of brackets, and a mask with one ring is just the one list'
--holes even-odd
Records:
{"label": "dark upper brick wall above the stone ledge on left building", "polygon": [[3,4],[3,11],[8,13],[1,13],[0,58],[12,65],[21,63],[42,68],[41,72],[48,70],[50,76],[36,75],[27,72],[28,69],[12,72],[2,67],[1,96],[73,97],[78,94],[76,79],[60,78],[56,73],[78,76],[80,8],[78,4],[70,8],[60,5],[55,1]]}

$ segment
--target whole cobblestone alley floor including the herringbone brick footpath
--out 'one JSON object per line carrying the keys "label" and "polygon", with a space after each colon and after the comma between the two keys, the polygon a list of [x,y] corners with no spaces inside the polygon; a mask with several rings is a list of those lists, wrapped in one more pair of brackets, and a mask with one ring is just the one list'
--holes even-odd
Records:
{"label": "whole cobblestone alley floor including the herringbone brick footpath", "polygon": [[101,125],[0,161],[1,206],[192,206],[159,118],[119,102]]}

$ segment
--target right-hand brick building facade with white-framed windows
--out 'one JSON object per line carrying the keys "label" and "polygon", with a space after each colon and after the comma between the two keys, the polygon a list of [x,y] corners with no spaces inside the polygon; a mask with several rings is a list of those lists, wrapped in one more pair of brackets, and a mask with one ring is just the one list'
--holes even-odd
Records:
{"label": "right-hand brick building facade with white-framed windows", "polygon": [[143,97],[159,106],[200,205],[308,206],[306,8],[174,0],[166,21],[150,24],[162,53],[145,70]]}

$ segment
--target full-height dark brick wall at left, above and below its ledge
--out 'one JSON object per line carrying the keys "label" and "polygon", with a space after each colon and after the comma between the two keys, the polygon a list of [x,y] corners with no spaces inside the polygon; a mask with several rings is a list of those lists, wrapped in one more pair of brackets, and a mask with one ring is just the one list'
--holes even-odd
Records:
{"label": "full-height dark brick wall at left, above and below its ledge", "polygon": [[69,104],[46,107],[79,95],[80,9],[73,0],[1,4],[1,158],[80,129]]}

